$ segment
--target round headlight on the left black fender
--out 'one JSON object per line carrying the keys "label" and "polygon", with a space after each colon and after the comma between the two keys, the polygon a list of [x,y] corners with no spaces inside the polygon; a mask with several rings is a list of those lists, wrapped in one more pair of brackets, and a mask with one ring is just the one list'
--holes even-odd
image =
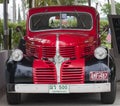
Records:
{"label": "round headlight on the left black fender", "polygon": [[23,58],[23,52],[20,50],[20,49],[15,49],[13,52],[12,52],[12,59],[14,61],[21,61]]}

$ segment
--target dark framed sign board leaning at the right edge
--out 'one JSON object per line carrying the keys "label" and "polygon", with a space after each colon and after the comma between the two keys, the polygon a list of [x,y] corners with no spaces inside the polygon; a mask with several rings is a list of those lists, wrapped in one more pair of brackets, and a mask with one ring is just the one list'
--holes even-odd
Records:
{"label": "dark framed sign board leaning at the right edge", "polygon": [[115,57],[120,57],[120,15],[108,15],[112,47]]}

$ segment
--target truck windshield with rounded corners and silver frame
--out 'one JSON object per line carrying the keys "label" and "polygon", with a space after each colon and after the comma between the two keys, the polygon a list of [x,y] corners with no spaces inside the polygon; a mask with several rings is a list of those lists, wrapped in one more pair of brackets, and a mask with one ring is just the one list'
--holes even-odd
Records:
{"label": "truck windshield with rounded corners and silver frame", "polygon": [[92,17],[89,13],[44,13],[30,18],[30,30],[46,29],[88,29],[92,28]]}

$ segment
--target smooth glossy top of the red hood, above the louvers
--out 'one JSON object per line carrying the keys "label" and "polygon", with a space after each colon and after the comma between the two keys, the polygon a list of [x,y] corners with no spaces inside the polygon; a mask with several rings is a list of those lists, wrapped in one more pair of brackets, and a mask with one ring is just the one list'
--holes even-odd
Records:
{"label": "smooth glossy top of the red hood, above the louvers", "polygon": [[57,36],[59,36],[58,41],[60,46],[77,46],[86,43],[92,44],[94,42],[93,36],[78,33],[46,33],[35,36],[34,40],[42,46],[55,46]]}

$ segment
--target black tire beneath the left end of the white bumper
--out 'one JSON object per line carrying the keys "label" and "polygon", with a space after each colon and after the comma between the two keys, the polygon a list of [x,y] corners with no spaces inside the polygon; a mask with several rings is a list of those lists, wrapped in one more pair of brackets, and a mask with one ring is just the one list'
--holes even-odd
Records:
{"label": "black tire beneath the left end of the white bumper", "polygon": [[8,104],[15,105],[21,102],[21,94],[20,93],[7,93],[7,102]]}

